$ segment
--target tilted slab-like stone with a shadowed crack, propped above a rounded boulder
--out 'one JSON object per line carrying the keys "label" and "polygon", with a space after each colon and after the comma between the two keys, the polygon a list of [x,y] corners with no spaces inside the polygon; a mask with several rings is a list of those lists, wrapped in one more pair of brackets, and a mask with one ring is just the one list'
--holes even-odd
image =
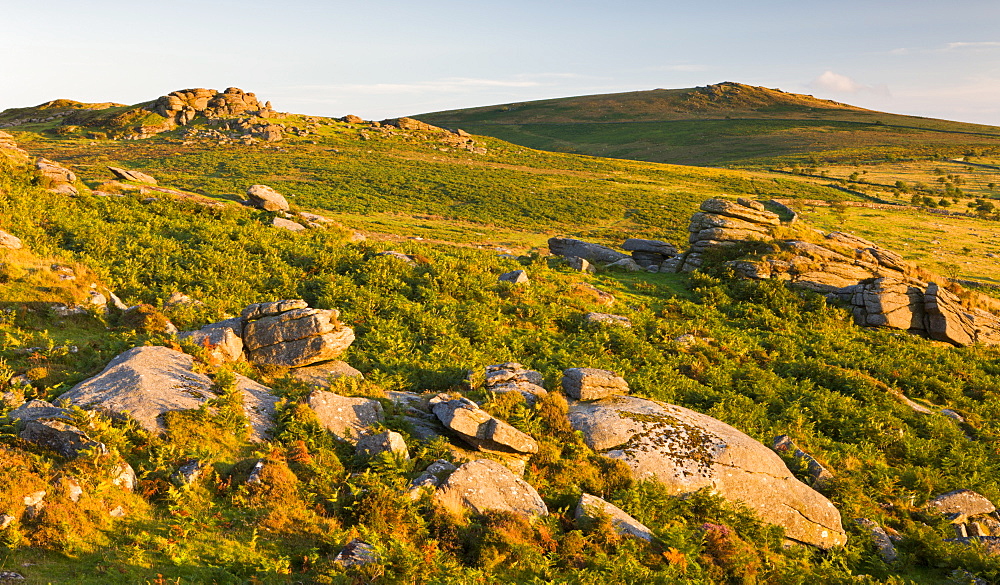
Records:
{"label": "tilted slab-like stone with a shadowed crack, propped above a rounded boulder", "polygon": [[538,452],[538,443],[530,435],[490,415],[468,398],[438,394],[430,405],[445,427],[477,449],[516,455]]}

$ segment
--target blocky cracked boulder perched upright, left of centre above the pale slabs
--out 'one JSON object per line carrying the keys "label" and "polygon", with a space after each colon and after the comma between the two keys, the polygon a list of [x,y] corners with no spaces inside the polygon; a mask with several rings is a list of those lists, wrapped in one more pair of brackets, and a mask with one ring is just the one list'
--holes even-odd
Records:
{"label": "blocky cracked boulder perched upright, left of centre above the pale slabs", "polygon": [[[248,307],[244,314],[266,310]],[[341,324],[339,316],[335,309],[295,308],[249,321],[243,330],[247,359],[284,367],[332,360],[354,342],[354,330]]]}

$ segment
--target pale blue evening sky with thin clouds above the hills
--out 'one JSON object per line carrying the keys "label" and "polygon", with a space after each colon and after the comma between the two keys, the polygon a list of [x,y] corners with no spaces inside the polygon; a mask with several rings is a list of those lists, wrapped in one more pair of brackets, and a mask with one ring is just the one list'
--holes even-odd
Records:
{"label": "pale blue evening sky with thin clouds above the hills", "polygon": [[722,81],[1000,126],[1000,2],[0,0],[0,109],[239,87],[379,120]]}

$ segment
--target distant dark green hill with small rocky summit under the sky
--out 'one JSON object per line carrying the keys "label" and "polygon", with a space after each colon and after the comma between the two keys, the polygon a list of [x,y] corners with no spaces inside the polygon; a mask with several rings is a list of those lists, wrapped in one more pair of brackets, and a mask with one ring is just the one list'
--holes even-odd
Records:
{"label": "distant dark green hill with small rocky summit under the sky", "polygon": [[555,152],[761,167],[1000,154],[1000,128],[725,82],[433,112],[430,124]]}

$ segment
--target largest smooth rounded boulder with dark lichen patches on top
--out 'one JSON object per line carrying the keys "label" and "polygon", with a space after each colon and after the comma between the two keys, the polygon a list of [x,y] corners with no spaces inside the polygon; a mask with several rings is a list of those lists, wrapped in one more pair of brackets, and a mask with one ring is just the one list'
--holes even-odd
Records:
{"label": "largest smooth rounded boulder with dark lichen patches on top", "polygon": [[711,488],[802,543],[830,548],[847,541],[829,500],[795,479],[773,451],[719,420],[626,396],[573,402],[569,419],[591,448],[627,463],[637,480],[658,481],[675,494]]}

